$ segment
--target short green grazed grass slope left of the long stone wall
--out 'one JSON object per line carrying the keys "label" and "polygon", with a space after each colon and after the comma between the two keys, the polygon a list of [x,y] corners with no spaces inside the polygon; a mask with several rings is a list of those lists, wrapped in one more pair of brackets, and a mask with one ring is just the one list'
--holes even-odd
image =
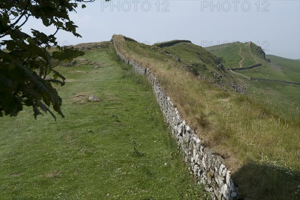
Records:
{"label": "short green grazed grass slope left of the long stone wall", "polygon": [[[207,199],[182,163],[145,77],[108,48],[84,57],[104,67],[57,69],[67,79],[57,86],[65,118],[34,120],[31,108],[0,118],[0,199]],[[100,101],[89,102],[89,95]]]}

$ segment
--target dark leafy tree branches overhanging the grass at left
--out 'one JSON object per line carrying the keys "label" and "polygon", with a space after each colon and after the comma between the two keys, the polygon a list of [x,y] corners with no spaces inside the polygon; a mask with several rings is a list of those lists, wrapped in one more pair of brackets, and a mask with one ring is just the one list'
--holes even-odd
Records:
{"label": "dark leafy tree branches overhanging the grass at left", "polygon": [[[53,83],[64,85],[65,78],[54,67],[59,61],[83,55],[82,51],[61,47],[55,34],[59,30],[76,37],[76,25],[68,13],[84,2],[94,0],[0,0],[0,117],[16,116],[23,106],[32,106],[34,118],[41,111],[53,110],[63,117],[62,100]],[[108,0],[106,0],[108,1]],[[31,28],[25,33],[21,27],[30,17],[42,20],[43,25],[54,27],[50,35]],[[56,46],[51,54],[49,47]]]}

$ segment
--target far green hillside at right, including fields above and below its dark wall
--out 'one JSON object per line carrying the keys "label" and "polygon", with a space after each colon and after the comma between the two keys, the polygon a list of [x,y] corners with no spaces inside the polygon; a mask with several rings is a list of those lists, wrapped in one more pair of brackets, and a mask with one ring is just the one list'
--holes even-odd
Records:
{"label": "far green hillside at right, including fields above and below its dark wall", "polygon": [[[251,48],[249,43],[233,42],[206,47],[205,49],[221,57],[222,63],[228,68],[239,65],[239,67],[246,67],[247,65],[244,64],[245,57],[252,57],[252,60],[255,59],[255,63],[262,64],[251,69],[234,70],[234,72],[253,78],[300,82],[300,62],[273,55],[264,56],[261,49],[253,43],[251,43]],[[284,115],[291,119],[299,117],[297,112],[300,108],[299,86],[268,81],[255,82],[238,75],[235,76],[249,85],[247,93],[251,97],[258,102],[263,102],[276,115]]]}

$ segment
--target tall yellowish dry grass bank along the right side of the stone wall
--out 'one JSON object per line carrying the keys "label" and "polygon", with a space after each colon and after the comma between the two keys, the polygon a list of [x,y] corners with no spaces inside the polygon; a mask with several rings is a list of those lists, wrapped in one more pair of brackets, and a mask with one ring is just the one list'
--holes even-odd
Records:
{"label": "tall yellowish dry grass bank along the right side of the stone wall", "polygon": [[[296,199],[300,192],[299,110],[290,111],[294,117],[288,118],[255,96],[224,92],[188,72],[176,56],[165,52],[197,61],[184,54],[190,44],[161,49],[125,40],[121,35],[113,37],[126,57],[151,70],[180,115],[202,139],[202,145],[225,159],[241,199]],[[123,44],[134,48],[122,48]]]}

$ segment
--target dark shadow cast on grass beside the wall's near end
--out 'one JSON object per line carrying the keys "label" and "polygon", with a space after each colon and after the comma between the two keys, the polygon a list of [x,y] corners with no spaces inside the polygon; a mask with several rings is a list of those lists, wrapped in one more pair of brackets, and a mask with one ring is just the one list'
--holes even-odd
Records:
{"label": "dark shadow cast on grass beside the wall's near end", "polygon": [[300,200],[300,173],[248,163],[232,174],[239,200]]}

